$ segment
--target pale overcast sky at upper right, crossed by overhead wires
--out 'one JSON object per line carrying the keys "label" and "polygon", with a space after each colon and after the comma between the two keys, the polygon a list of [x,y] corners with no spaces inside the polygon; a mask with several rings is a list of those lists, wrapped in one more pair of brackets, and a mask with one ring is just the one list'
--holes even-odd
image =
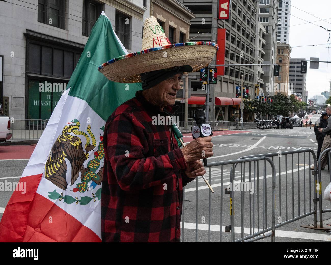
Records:
{"label": "pale overcast sky at upper right, crossed by overhead wires", "polygon": [[[330,10],[330,0],[291,0],[291,21],[289,28],[290,45],[292,47],[291,58],[306,58],[307,60],[309,60],[310,57],[319,57],[320,61],[330,61],[331,51],[328,58],[329,49],[326,45],[329,38],[329,33],[325,29],[319,27],[322,26],[327,29],[331,29]],[[310,13],[311,15],[305,13],[304,11]],[[316,16],[317,18],[314,16]],[[307,23],[303,19],[309,22],[321,19],[324,19],[326,21],[316,21],[313,22],[314,24],[316,24],[314,25],[311,23]],[[302,23],[307,24],[298,25]],[[311,47],[295,47],[315,44],[324,45]],[[309,62],[307,63],[306,90],[308,91],[308,98],[315,94],[320,94],[324,91],[330,91],[330,80],[331,63],[319,63],[319,69],[309,69]]]}

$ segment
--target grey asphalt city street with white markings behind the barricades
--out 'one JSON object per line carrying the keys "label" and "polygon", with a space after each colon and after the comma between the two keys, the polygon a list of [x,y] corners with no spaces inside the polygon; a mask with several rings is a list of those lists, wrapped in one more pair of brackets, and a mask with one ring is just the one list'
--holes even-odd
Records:
{"label": "grey asphalt city street with white markings behind the barricades", "polygon": [[[313,115],[311,120],[315,120],[320,115]],[[190,134],[184,135],[184,142],[188,143],[192,140]],[[313,128],[301,128],[294,127],[293,129],[271,129],[271,130],[246,130],[246,131],[217,131],[213,132],[212,136],[213,152],[214,156],[208,158],[209,162],[217,161],[227,161],[238,159],[243,156],[249,155],[260,155],[265,153],[278,153],[279,151],[292,151],[292,150],[302,150],[310,148],[316,153],[317,143],[315,139],[315,133]],[[28,158],[32,154],[35,145],[21,145],[21,146],[0,146],[0,174],[1,181],[18,181],[20,174],[23,172],[25,166],[27,165]],[[276,172],[279,172],[278,158],[274,158],[274,163],[276,167]],[[280,164],[281,171],[281,185],[279,186],[279,177],[276,175],[276,219],[279,216],[279,187],[282,191],[281,198],[281,211],[280,215],[283,220],[286,219],[285,211],[288,208],[288,218],[292,217],[292,164],[291,164],[291,155],[287,156],[287,168],[285,164],[285,157],[282,156]],[[310,160],[310,165],[313,165],[312,156]],[[300,211],[301,214],[304,212],[304,202],[306,202],[306,212],[309,211],[309,203],[311,203],[311,210],[313,209],[313,175],[311,174],[311,189],[309,190],[309,154],[305,154],[305,164],[303,154],[300,155],[299,163],[297,154],[294,155],[294,217],[298,214],[298,207],[296,204],[296,198],[298,196],[298,164],[300,172],[300,195],[301,195],[301,205]],[[305,165],[305,169],[304,169]],[[259,176],[263,176],[262,171],[263,162],[260,162],[260,172]],[[287,174],[285,173],[286,171]],[[251,163],[251,170],[249,170],[249,163],[246,163],[245,168],[246,181],[249,179],[249,172],[251,172],[251,177],[253,178],[254,169],[253,162]],[[303,178],[305,173],[306,186],[305,186],[305,200],[303,199],[304,186]],[[288,207],[286,207],[285,201],[285,190],[286,190],[286,175],[288,177]],[[209,169],[207,168],[207,173],[205,174],[206,178],[209,178]],[[211,182],[214,189],[214,193],[211,194],[211,241],[219,242],[219,225],[220,225],[220,201],[221,201],[221,192],[223,192],[223,220],[222,226],[224,231],[224,226],[230,224],[229,220],[229,195],[224,194],[224,188],[228,186],[224,185],[229,181],[230,176],[230,166],[223,167],[223,186],[221,186],[221,170],[220,167],[212,169]],[[237,166],[235,170],[235,180],[239,180],[241,176],[240,165]],[[270,226],[271,215],[269,214],[271,208],[271,169],[267,163],[266,167],[266,176],[267,176],[267,225]],[[261,179],[261,178],[260,178]],[[329,172],[326,170],[322,171],[322,196],[325,189],[325,186],[329,183]],[[260,187],[255,186],[255,192],[259,190],[260,192],[260,228],[262,228],[262,180],[260,180]],[[198,194],[198,241],[207,242],[208,241],[208,202],[209,202],[209,189],[205,184],[202,177],[198,178],[199,194]],[[195,208],[196,208],[196,180],[192,181],[185,187],[185,233],[184,240],[186,242],[195,241]],[[309,194],[310,192],[310,194]],[[12,191],[3,191],[0,193],[0,218],[4,211],[6,204],[8,203]],[[248,192],[247,192],[248,194]],[[254,194],[252,194],[254,195]],[[245,196],[245,229],[249,229],[249,202]],[[311,198],[309,200],[309,198]],[[241,227],[240,223],[240,192],[235,193],[236,206],[235,206],[235,226]],[[252,197],[253,200],[253,197]],[[253,201],[252,201],[253,202]],[[257,203],[257,201],[255,201]],[[253,206],[252,206],[253,207]],[[323,208],[330,208],[330,204],[327,201],[323,201]],[[255,211],[257,213],[257,210]],[[257,215],[256,215],[257,216]],[[255,216],[256,222],[257,217]],[[330,213],[324,213],[323,218],[328,219],[331,217]],[[313,230],[308,228],[300,227],[300,225],[308,225],[313,223],[313,215],[295,221],[293,223],[286,224],[278,229],[276,229],[276,242],[325,242],[331,241],[331,235],[328,232]],[[277,223],[276,223],[277,224]],[[255,223],[255,228],[257,228],[257,223]],[[241,237],[240,228],[235,230],[235,239]],[[247,230],[246,230],[247,231]],[[249,231],[249,230],[248,230]],[[239,232],[239,233],[237,233]],[[222,235],[222,241],[228,242],[230,240],[230,233],[224,233]],[[266,238],[260,240],[259,242],[269,242],[271,238]]]}

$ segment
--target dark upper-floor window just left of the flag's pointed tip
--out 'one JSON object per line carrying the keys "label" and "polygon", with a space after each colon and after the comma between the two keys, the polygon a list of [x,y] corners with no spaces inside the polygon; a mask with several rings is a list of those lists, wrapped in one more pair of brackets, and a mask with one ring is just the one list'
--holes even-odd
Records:
{"label": "dark upper-floor window just left of the flag's pointed tip", "polygon": [[99,18],[99,14],[102,11],[102,4],[91,0],[83,0],[83,27],[82,35],[89,36],[91,30]]}

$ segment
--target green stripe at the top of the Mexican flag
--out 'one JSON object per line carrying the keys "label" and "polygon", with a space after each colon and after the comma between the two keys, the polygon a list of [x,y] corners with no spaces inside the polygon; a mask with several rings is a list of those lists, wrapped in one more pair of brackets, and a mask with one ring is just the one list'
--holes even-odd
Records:
{"label": "green stripe at the top of the Mexican flag", "polygon": [[141,83],[112,82],[98,71],[102,63],[124,54],[110,20],[101,15],[67,86],[69,95],[85,100],[105,121],[119,105],[141,90]]}

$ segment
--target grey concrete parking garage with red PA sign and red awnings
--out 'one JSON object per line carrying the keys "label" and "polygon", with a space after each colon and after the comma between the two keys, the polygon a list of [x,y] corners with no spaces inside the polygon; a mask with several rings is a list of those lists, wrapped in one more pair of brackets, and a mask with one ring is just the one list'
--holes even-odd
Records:
{"label": "grey concrete parking garage with red PA sign and red awnings", "polygon": [[[219,40],[218,44],[220,44],[224,38],[217,37],[217,29],[225,29],[224,64],[253,64],[257,61],[259,52],[257,49],[259,2],[232,0],[230,3],[230,19],[222,20],[218,19],[217,0],[203,2],[201,0],[183,0],[183,4],[195,14],[195,18],[191,20],[190,40],[212,42]],[[213,61],[211,64],[215,64],[215,62]],[[188,88],[191,90],[188,99],[189,118],[193,117],[194,110],[201,108],[206,101],[206,91],[202,90],[199,74],[199,72],[189,74]],[[217,77],[217,84],[208,85],[212,98],[209,103],[211,110],[209,120],[218,116],[227,121],[229,118],[239,115],[240,98],[236,98],[236,87],[241,86],[242,75],[244,77],[243,85],[249,89],[248,94],[251,98],[255,96],[255,66],[225,66],[224,75]]]}

